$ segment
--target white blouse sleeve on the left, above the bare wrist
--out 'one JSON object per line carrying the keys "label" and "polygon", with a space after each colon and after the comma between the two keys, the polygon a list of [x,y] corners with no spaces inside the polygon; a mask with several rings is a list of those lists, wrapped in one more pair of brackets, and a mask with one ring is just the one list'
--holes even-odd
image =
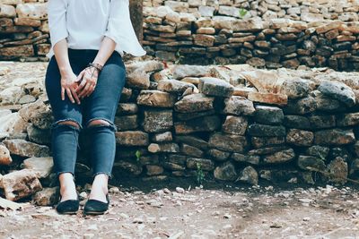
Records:
{"label": "white blouse sleeve on the left, above the bare wrist", "polygon": [[48,0],[48,28],[51,44],[68,37],[66,29],[67,0]]}

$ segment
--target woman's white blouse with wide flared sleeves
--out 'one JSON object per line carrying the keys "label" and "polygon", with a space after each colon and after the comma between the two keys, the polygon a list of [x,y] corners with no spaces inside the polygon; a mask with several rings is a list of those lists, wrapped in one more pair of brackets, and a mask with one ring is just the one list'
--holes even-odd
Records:
{"label": "woman's white blouse with wide flared sleeves", "polygon": [[145,55],[132,26],[128,0],[48,0],[51,49],[67,39],[72,49],[100,49],[104,36],[113,39],[120,55]]}

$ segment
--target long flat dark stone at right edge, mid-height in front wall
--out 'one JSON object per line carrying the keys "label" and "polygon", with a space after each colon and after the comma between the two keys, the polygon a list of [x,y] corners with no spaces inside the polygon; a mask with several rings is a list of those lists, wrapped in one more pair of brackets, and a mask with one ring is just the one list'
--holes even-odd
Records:
{"label": "long flat dark stone at right edge, mid-height in front wall", "polygon": [[319,145],[344,145],[354,142],[353,130],[330,129],[314,133],[314,143]]}

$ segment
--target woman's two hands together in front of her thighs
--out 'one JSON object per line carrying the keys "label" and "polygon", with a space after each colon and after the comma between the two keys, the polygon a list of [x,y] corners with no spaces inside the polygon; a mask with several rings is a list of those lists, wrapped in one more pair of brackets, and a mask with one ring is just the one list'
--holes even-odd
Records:
{"label": "woman's two hands together in front of her thighs", "polygon": [[65,100],[66,92],[71,102],[80,104],[80,98],[90,96],[95,90],[98,76],[99,72],[93,66],[85,68],[78,76],[74,73],[61,76],[61,99]]}

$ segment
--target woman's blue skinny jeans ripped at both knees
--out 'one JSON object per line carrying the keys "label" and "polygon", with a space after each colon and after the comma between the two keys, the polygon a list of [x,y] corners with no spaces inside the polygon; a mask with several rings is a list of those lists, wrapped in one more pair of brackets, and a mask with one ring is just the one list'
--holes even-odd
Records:
{"label": "woman's blue skinny jeans ripped at both knees", "polygon": [[[91,63],[98,50],[68,49],[69,61],[74,74],[78,75]],[[72,103],[65,94],[61,99],[61,75],[55,56],[51,57],[45,78],[48,100],[55,122],[51,126],[51,149],[57,175],[71,173],[77,158],[79,133],[88,131],[91,141],[93,175],[111,177],[115,159],[117,130],[114,122],[118,101],[126,82],[125,64],[121,55],[114,51],[99,74],[95,90],[89,97],[81,98],[81,104]],[[91,124],[94,120],[108,124]],[[75,123],[77,127],[68,122]],[[99,122],[99,121],[97,121]],[[95,122],[93,122],[95,123]]]}

